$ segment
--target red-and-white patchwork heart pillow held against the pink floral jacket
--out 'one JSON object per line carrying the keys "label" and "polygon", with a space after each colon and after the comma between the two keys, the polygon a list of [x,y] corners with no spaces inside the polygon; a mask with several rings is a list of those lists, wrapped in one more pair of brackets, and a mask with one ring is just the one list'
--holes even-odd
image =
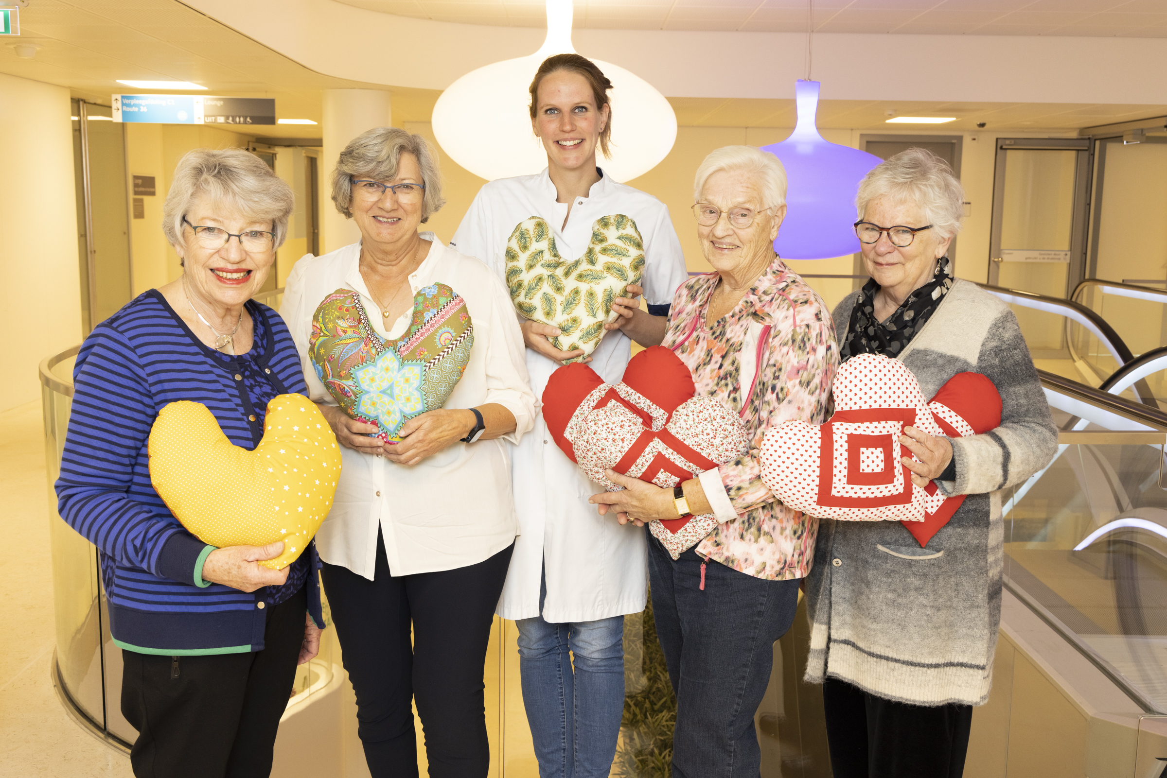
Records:
{"label": "red-and-white patchwork heart pillow held against the pink floral jacket", "polygon": [[[582,363],[560,367],[543,392],[543,416],[559,448],[608,491],[620,489],[608,469],[672,489],[749,448],[739,415],[696,393],[685,363],[652,346],[629,360],[620,384],[605,384]],[[677,559],[717,525],[707,513],[649,530]]]}

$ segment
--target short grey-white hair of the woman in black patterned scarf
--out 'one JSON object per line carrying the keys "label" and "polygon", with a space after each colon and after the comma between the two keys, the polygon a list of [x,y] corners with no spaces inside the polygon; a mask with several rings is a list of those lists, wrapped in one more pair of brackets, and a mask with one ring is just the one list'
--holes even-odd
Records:
{"label": "short grey-white hair of the woman in black patterned scarf", "polygon": [[867,205],[876,197],[890,197],[897,203],[920,205],[924,220],[932,225],[932,230],[942,239],[951,238],[960,231],[964,187],[952,175],[949,163],[925,148],[900,152],[867,171],[859,182],[859,194],[855,195],[855,210],[860,219],[864,218]]}

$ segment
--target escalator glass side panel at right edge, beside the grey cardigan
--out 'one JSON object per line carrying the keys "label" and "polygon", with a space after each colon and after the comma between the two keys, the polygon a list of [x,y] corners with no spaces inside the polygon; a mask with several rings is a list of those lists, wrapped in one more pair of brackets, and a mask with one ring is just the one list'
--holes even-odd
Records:
{"label": "escalator glass side panel at right edge, beside the grey cardigan", "polygon": [[1167,713],[1167,414],[1042,374],[1057,455],[1004,505],[1005,586]]}

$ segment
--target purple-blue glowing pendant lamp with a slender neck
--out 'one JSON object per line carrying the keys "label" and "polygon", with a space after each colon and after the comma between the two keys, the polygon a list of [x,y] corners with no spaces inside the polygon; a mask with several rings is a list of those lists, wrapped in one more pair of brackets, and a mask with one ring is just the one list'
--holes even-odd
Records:
{"label": "purple-blue glowing pendant lamp with a slender neck", "polygon": [[817,80],[795,82],[798,124],[790,138],[762,147],[787,168],[787,218],[774,241],[783,259],[829,259],[859,251],[851,226],[855,192],[864,175],[883,161],[818,134],[818,87]]}

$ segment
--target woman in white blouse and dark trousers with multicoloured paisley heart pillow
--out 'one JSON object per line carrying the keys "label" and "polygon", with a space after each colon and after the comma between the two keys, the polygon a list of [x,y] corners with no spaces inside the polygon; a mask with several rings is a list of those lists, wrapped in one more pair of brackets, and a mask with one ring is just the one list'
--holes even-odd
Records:
{"label": "woman in white blouse and dark trousers with multicoloured paisley heart pillow", "polygon": [[[361,240],[298,261],[281,310],[308,395],[343,447],[316,542],[357,735],[373,778],[417,776],[415,701],[429,775],[485,778],[482,673],[518,534],[504,444],[523,437],[537,407],[523,337],[502,281],[418,231],[443,203],[420,135],[377,127],[354,138],[333,202]],[[406,348],[414,339],[422,345]],[[439,364],[443,355],[461,355],[461,372]],[[431,391],[439,385],[445,401]],[[372,400],[350,401],[354,388]]]}

